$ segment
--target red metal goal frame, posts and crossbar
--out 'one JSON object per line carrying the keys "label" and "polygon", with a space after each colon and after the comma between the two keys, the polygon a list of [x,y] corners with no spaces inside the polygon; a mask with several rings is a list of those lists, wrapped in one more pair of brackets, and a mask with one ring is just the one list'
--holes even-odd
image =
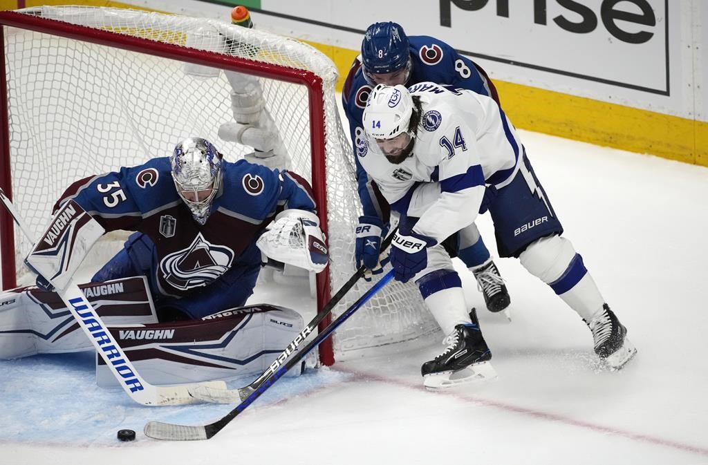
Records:
{"label": "red metal goal frame, posts and crossbar", "polygon": [[[324,234],[328,234],[327,225],[327,195],[326,195],[326,152],[325,152],[325,118],[324,95],[321,77],[312,71],[266,64],[251,59],[227,56],[216,52],[195,50],[180,45],[157,42],[130,35],[114,33],[108,30],[89,28],[83,25],[74,25],[63,21],[17,13],[15,11],[0,11],[0,40],[3,43],[2,59],[0,59],[0,188],[12,200],[11,182],[11,147],[10,125],[8,113],[8,88],[5,67],[5,28],[21,28],[38,33],[57,35],[63,38],[91,42],[108,47],[120,48],[131,52],[151,54],[156,57],[176,59],[207,67],[236,71],[253,76],[278,79],[292,84],[301,84],[307,88],[310,150],[312,162],[312,189],[317,204],[317,214],[320,227]],[[13,219],[5,209],[0,209],[0,270],[2,274],[1,285],[3,289],[16,287],[16,261],[15,261],[15,229]],[[329,237],[329,235],[328,235]],[[316,275],[316,299],[318,311],[329,302],[330,274],[329,265],[324,272]],[[331,316],[319,324],[322,330],[331,322]],[[334,362],[333,345],[331,338],[320,345],[320,360],[323,364],[331,365]]]}

